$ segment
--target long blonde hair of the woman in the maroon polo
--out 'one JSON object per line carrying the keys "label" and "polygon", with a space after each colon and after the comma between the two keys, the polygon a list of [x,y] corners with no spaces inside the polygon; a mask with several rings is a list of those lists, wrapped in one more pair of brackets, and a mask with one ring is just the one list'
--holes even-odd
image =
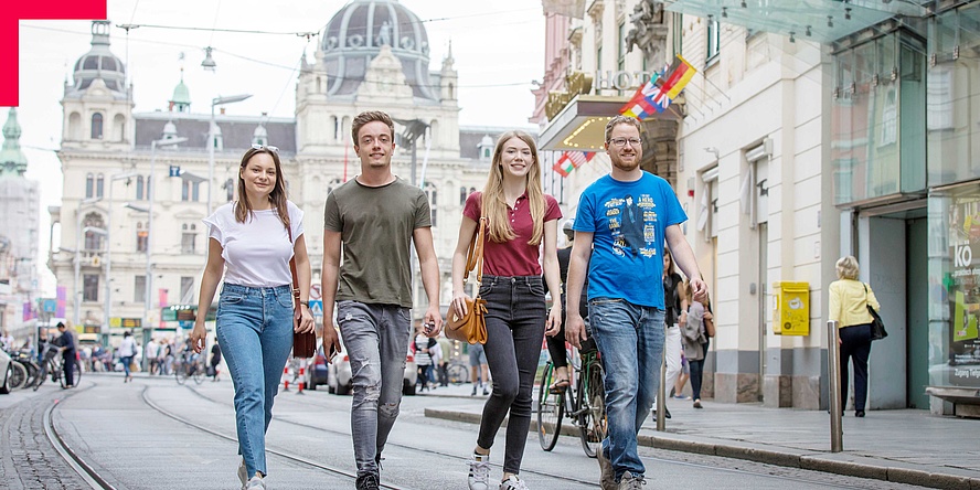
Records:
{"label": "long blonde hair of the woman in the maroon polo", "polygon": [[510,225],[507,210],[507,198],[503,195],[503,145],[511,138],[518,138],[531,147],[531,169],[524,177],[528,203],[531,205],[531,221],[534,223],[529,245],[540,245],[544,237],[544,191],[541,188],[541,163],[537,159],[537,146],[534,145],[534,138],[524,131],[507,131],[500,135],[497,140],[497,148],[493,150],[493,160],[490,166],[490,175],[487,178],[487,185],[483,188],[481,196],[482,203],[480,209],[483,215],[489,219],[487,232],[490,239],[497,243],[503,243],[516,238],[514,230]]}

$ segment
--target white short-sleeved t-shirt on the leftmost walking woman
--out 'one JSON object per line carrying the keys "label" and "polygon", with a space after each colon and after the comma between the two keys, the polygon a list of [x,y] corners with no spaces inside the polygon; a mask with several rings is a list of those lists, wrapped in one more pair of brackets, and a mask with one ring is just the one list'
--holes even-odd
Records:
{"label": "white short-sleeved t-shirt on the leftmost walking woman", "polygon": [[[302,235],[302,211],[287,201],[292,239]],[[292,284],[289,259],[292,243],[275,209],[255,211],[245,223],[235,221],[235,203],[227,203],[204,219],[211,238],[221,244],[225,260],[225,283],[247,287]]]}

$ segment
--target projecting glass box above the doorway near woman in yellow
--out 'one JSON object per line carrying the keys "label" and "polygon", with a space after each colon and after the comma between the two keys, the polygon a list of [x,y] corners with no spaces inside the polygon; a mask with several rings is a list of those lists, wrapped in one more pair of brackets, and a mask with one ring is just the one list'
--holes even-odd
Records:
{"label": "projecting glass box above the doorway near woman in yellow", "polygon": [[834,53],[834,203],[924,192],[925,40],[897,28]]}

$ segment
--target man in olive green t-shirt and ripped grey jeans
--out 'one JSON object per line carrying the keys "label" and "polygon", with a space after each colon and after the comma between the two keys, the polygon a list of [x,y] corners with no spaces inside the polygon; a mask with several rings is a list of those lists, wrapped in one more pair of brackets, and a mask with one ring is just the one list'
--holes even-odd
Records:
{"label": "man in olive green t-shirt and ripped grey jeans", "polygon": [[439,264],[425,192],[392,173],[392,118],[382,111],[361,113],[351,125],[351,137],[361,174],[328,194],[323,212],[323,352],[329,358],[340,350],[333,328],[335,298],[337,323],[353,375],[356,488],[374,490],[381,454],[398,417],[413,331],[412,243],[428,298],[423,316],[428,337],[443,328]]}

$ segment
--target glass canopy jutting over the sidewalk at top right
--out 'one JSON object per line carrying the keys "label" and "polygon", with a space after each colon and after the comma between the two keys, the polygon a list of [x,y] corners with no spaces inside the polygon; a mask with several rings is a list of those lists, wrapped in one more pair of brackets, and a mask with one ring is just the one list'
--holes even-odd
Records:
{"label": "glass canopy jutting over the sidewalk at top right", "polygon": [[933,0],[665,0],[680,12],[754,31],[829,43],[895,15],[924,17]]}

